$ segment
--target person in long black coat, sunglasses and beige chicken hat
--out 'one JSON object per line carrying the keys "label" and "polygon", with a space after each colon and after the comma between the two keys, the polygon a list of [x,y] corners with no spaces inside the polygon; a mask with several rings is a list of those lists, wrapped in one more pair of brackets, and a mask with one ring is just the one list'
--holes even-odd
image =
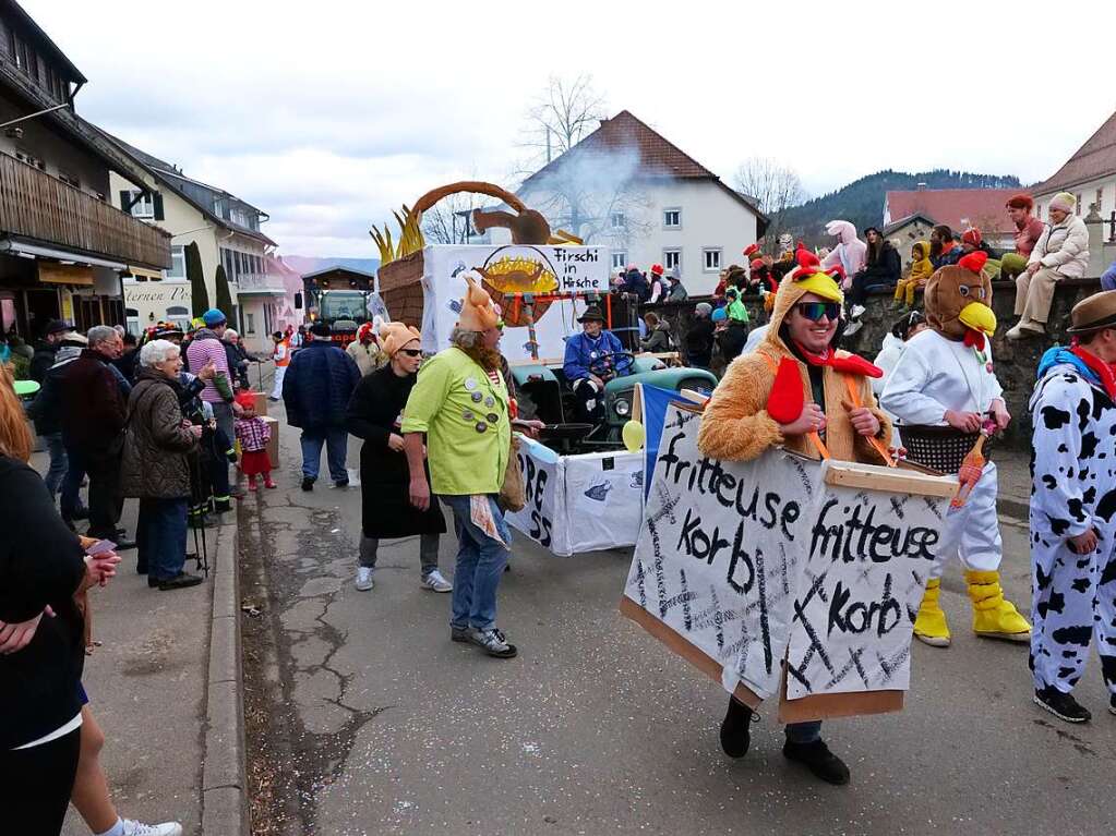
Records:
{"label": "person in long black coat, sunglasses and beige chicken hat", "polygon": [[[453,585],[437,568],[437,539],[445,532],[445,518],[436,503],[431,503],[426,511],[419,511],[411,504],[411,472],[400,434],[403,408],[422,362],[421,334],[402,322],[388,322],[381,325],[379,339],[388,362],[362,378],[348,405],[348,431],[364,439],[360,448],[363,536],[356,587],[367,591],[375,585],[372,574],[379,541],[417,534],[422,587],[450,592]],[[429,473],[426,478],[430,479]]]}

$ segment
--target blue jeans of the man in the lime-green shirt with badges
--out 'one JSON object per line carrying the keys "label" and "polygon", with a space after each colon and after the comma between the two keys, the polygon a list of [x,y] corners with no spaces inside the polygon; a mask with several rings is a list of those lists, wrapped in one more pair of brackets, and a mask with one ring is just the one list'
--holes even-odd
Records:
{"label": "blue jeans of the man in the lime-green shirt with badges", "polygon": [[[453,613],[450,625],[491,630],[496,625],[496,587],[511,552],[492,539],[472,521],[469,496],[443,496],[442,502],[453,512],[453,529],[458,534],[458,566],[453,577]],[[511,543],[511,531],[496,496],[488,497],[492,518],[504,543]]]}

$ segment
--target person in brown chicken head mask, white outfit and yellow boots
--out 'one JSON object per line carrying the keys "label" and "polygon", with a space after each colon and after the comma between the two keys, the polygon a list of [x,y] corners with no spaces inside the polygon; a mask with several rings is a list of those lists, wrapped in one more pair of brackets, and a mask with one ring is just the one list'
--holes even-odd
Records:
{"label": "person in brown chicken head mask, white outfit and yellow boots", "polygon": [[950,644],[939,604],[941,575],[954,554],[965,568],[973,603],[973,632],[989,639],[1030,641],[1030,625],[1000,586],[1003,545],[995,515],[995,464],[980,454],[983,439],[1003,430],[1011,416],[992,366],[992,283],[983,273],[988,255],[973,252],[939,269],[926,283],[929,329],[906,343],[879,396],[896,417],[907,457],[959,474],[963,488],[951,504],[937,560],[914,623],[926,644]]}

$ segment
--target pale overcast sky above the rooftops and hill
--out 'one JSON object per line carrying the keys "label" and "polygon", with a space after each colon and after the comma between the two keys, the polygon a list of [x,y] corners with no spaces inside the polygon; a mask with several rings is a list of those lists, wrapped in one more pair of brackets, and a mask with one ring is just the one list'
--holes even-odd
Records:
{"label": "pale overcast sky above the rooftops and hill", "polygon": [[510,185],[552,75],[591,72],[610,114],[727,182],[772,156],[811,194],[888,167],[1033,182],[1116,109],[1112,0],[22,4],[88,77],[79,114],[264,210],[299,255],[374,256],[391,207]]}

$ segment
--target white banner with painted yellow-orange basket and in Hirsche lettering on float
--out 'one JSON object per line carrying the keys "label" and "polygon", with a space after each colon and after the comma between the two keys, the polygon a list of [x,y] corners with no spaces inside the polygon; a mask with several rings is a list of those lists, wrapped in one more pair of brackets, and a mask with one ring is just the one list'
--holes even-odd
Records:
{"label": "white banner with painted yellow-orange basket and in Hirsche lettering on float", "polygon": [[[450,346],[450,334],[461,313],[465,280],[472,270],[481,274],[493,302],[508,308],[506,293],[587,293],[608,291],[609,254],[597,246],[427,246],[423,251],[423,350],[441,351]],[[536,305],[535,329],[540,358],[560,358],[566,337],[580,333],[577,318],[585,310],[581,300],[540,302]],[[509,360],[531,357],[526,327],[510,324],[506,310],[500,350]]]}

